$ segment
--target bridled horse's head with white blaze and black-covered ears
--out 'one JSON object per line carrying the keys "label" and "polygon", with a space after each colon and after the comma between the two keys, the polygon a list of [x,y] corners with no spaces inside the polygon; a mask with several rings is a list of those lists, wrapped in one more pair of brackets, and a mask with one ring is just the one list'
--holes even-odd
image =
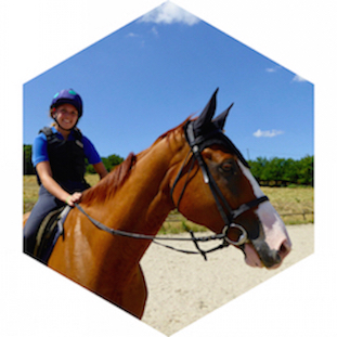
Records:
{"label": "bridled horse's head with white blaze and black-covered ears", "polygon": [[172,182],[172,199],[191,221],[223,233],[244,251],[247,264],[276,268],[290,251],[290,239],[247,161],[222,132],[232,105],[212,119],[217,92],[184,126],[192,155]]}

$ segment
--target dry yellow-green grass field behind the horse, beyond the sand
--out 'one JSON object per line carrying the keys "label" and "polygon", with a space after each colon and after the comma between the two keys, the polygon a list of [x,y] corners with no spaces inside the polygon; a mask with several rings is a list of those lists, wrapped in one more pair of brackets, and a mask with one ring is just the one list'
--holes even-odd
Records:
{"label": "dry yellow-green grass field behind the horse, beyond the sand", "polygon": [[[98,174],[88,174],[90,185],[99,181]],[[35,176],[24,176],[24,212],[29,211],[38,199],[39,186]],[[313,222],[313,187],[261,187],[286,224]],[[185,228],[203,231],[205,228],[194,224],[177,211],[172,211],[165,221],[160,233],[180,233]]]}

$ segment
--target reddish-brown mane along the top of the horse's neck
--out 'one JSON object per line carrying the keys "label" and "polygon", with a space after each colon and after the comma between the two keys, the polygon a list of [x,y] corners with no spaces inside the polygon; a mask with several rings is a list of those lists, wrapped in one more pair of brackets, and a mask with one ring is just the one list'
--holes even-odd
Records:
{"label": "reddish-brown mane along the top of the horse's neck", "polygon": [[125,159],[113,171],[111,171],[95,186],[83,192],[81,203],[86,205],[90,205],[92,203],[104,203],[106,199],[112,197],[127,181],[137,160],[140,160],[142,157],[144,157],[151,151],[151,148],[163,139],[169,139],[169,135],[174,134],[174,131],[181,129],[187,120],[189,118],[178,127],[163,133],[151,147],[139,153],[137,156],[133,153],[130,153],[127,159]]}

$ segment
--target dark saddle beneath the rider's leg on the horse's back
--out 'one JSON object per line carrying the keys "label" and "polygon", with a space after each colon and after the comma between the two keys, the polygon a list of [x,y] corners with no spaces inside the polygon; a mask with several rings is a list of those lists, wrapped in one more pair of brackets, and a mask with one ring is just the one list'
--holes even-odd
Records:
{"label": "dark saddle beneath the rider's leg on the horse's back", "polygon": [[70,206],[63,206],[51,211],[43,219],[34,249],[34,256],[41,262],[47,264],[57,238],[64,235],[63,224],[70,209]]}

